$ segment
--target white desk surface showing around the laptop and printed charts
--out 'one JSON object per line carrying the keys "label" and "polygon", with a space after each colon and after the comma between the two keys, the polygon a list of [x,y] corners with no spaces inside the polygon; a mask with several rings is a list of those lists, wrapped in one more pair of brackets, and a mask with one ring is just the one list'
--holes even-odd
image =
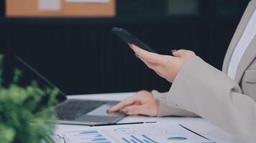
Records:
{"label": "white desk surface showing around the laptop and printed charts", "polygon": [[[112,100],[112,101],[120,101],[129,96],[132,96],[134,93],[118,93],[118,94],[87,94],[87,95],[75,95],[69,96],[69,99],[95,99],[95,100]],[[219,127],[214,126],[210,122],[207,122],[205,119],[201,118],[188,118],[188,117],[143,117],[143,116],[129,116],[120,120],[119,123],[122,122],[177,122],[179,124],[183,124],[183,126],[188,127],[188,129],[192,129],[194,132],[203,135],[211,139],[217,143],[244,143],[237,137],[234,137],[232,134],[228,132],[224,132],[224,130],[219,129]],[[58,124],[55,132],[62,132],[67,130],[77,130],[83,129],[86,126],[78,126],[78,125],[64,125]]]}

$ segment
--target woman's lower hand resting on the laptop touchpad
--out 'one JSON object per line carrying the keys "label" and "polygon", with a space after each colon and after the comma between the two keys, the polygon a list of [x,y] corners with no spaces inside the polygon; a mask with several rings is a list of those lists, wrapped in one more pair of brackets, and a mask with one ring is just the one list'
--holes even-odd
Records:
{"label": "woman's lower hand resting on the laptop touchpad", "polygon": [[123,112],[124,114],[144,114],[157,116],[158,104],[151,92],[140,91],[134,96],[124,99],[109,109],[109,112]]}

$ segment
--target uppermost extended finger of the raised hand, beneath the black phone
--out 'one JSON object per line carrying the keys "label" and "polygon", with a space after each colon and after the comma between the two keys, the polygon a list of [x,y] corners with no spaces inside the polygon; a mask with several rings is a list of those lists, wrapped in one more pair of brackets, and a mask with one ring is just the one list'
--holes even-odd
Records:
{"label": "uppermost extended finger of the raised hand, beneath the black phone", "polygon": [[151,63],[159,63],[161,61],[162,55],[155,54],[150,51],[146,51],[144,49],[139,48],[138,46],[134,44],[130,44],[132,46],[132,50],[139,55],[140,59],[143,59],[144,61],[149,61]]}

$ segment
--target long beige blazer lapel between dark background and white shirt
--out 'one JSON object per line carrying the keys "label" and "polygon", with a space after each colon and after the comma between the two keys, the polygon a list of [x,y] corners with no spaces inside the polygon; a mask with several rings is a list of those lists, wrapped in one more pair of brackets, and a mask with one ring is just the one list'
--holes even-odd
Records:
{"label": "long beige blazer lapel between dark background and white shirt", "polygon": [[234,36],[232,38],[232,41],[229,44],[229,49],[227,49],[227,53],[224,59],[224,63],[222,66],[222,71],[227,74],[227,71],[229,69],[229,62],[231,60],[232,54],[234,52],[234,49],[237,47],[237,43],[242,37],[242,34],[244,33],[244,30],[250,21],[250,18],[255,11],[256,3],[255,1],[250,1],[249,5],[247,6],[246,11],[244,12],[244,15],[242,16],[241,21],[239,22],[239,25],[237,26],[237,30],[234,33]]}

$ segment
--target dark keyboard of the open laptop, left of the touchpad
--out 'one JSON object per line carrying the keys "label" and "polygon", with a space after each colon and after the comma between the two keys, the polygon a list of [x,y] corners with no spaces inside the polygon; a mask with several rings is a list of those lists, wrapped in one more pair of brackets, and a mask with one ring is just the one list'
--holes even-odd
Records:
{"label": "dark keyboard of the open laptop, left of the touchpad", "polygon": [[56,112],[58,114],[58,119],[75,120],[105,103],[106,102],[70,99],[64,104],[56,107]]}

